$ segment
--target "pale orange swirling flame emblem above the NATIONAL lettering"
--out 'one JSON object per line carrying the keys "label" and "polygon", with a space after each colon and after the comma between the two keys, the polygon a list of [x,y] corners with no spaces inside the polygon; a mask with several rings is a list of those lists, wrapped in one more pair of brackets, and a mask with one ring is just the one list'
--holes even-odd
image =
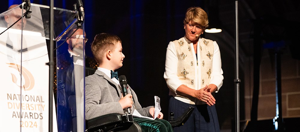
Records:
{"label": "pale orange swirling flame emblem above the NATIONAL lettering", "polygon": [[[14,64],[14,63],[6,63],[6,64],[9,64],[8,67],[16,69],[18,72],[21,71],[21,66],[18,64]],[[22,84],[24,84],[22,86],[17,84],[16,75],[13,73],[10,73],[10,74],[11,74],[11,79],[12,79],[13,83],[15,83],[17,86],[21,87],[23,90],[31,90],[35,85],[35,79],[33,78],[32,74],[29,72],[29,70],[27,70],[25,67],[22,67],[22,76],[25,79],[24,81],[22,81],[23,82]]]}

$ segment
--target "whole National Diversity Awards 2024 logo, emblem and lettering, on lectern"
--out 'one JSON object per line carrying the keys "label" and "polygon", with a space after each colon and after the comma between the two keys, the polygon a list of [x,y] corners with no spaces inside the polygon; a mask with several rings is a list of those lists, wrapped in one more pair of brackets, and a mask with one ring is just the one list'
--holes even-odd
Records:
{"label": "whole National Diversity Awards 2024 logo, emblem and lettering, on lectern", "polygon": [[[20,92],[20,90],[10,89],[6,93],[7,98],[7,109],[6,113],[10,115],[10,123],[15,123],[20,125],[20,128],[29,128],[32,130],[40,129],[43,126],[44,112],[47,110],[47,103],[44,100],[44,92],[40,92],[40,88],[37,87],[39,84],[36,82],[33,77],[32,72],[30,72],[24,66],[14,63],[6,63],[10,67],[11,81],[8,82],[12,85],[16,85],[16,88],[19,87],[25,92]],[[38,67],[33,65],[35,70],[38,70]],[[35,77],[43,78],[38,75]],[[31,90],[29,92],[29,90]],[[47,102],[47,101],[46,101]],[[47,112],[46,112],[47,113]]]}

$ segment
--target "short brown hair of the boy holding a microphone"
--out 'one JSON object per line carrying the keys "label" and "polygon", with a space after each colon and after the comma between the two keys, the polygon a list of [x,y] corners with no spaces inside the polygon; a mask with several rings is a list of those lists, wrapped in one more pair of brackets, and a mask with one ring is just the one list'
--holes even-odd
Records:
{"label": "short brown hair of the boy holding a microphone", "polygon": [[107,50],[115,50],[117,43],[122,44],[121,39],[117,35],[101,33],[95,36],[91,44],[91,50],[98,64],[102,64],[103,57]]}

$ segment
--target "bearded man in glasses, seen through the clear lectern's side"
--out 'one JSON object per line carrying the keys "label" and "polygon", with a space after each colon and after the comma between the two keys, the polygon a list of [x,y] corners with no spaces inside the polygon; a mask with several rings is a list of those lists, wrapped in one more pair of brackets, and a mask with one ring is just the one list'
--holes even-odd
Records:
{"label": "bearded man in glasses, seen through the clear lectern's side", "polygon": [[[92,58],[83,55],[83,47],[87,38],[83,39],[82,29],[71,29],[67,33],[66,44],[57,49],[57,117],[58,130],[77,131],[76,126],[76,102],[74,97],[80,95],[76,90],[79,83],[75,78],[83,78],[83,58],[85,58],[85,67],[94,67],[96,65]],[[75,32],[74,32],[75,31]],[[73,33],[74,32],[74,33]],[[71,35],[73,33],[73,35]],[[71,35],[71,36],[70,36]],[[84,33],[84,36],[86,34]],[[93,62],[90,64],[90,62]],[[75,68],[74,67],[80,67]],[[82,68],[81,68],[82,67]],[[75,70],[75,72],[74,72]],[[79,79],[80,80],[80,79]]]}

